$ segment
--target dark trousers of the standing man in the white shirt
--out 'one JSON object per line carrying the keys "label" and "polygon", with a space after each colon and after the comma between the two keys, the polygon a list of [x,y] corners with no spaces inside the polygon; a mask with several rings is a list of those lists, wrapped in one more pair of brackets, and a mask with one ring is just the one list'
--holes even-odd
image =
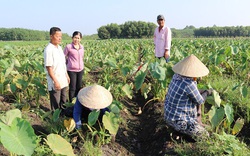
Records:
{"label": "dark trousers of the standing man in the white shirt", "polygon": [[61,90],[49,91],[51,110],[64,109],[63,104],[66,103],[67,99],[67,87]]}

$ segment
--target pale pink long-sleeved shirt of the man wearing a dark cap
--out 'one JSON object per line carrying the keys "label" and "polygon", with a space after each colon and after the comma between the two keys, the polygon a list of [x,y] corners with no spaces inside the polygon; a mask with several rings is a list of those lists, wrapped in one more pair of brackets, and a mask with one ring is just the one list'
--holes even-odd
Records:
{"label": "pale pink long-sleeved shirt of the man wearing a dark cap", "polygon": [[168,49],[170,55],[172,34],[169,27],[164,26],[160,32],[159,27],[154,32],[155,56],[163,57],[165,49]]}

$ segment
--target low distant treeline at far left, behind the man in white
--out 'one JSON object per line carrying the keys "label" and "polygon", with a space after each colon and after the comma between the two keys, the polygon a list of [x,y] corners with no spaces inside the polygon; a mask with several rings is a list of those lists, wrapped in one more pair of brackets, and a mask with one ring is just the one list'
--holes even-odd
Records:
{"label": "low distant treeline at far left, behind the man in white", "polygon": [[[0,41],[40,41],[49,40],[48,31],[30,30],[23,28],[0,28]],[[63,34],[63,39],[70,39],[68,34]]]}

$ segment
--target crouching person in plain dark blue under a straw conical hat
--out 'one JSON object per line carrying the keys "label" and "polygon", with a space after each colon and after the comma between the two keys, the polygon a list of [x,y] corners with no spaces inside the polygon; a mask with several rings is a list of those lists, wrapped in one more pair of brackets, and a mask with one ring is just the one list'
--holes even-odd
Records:
{"label": "crouching person in plain dark blue under a straw conical hat", "polygon": [[76,129],[81,128],[81,117],[88,117],[88,114],[93,110],[100,109],[101,118],[105,111],[109,111],[107,108],[112,103],[113,97],[111,93],[100,85],[93,85],[82,88],[76,99],[74,105],[73,118],[76,123]]}

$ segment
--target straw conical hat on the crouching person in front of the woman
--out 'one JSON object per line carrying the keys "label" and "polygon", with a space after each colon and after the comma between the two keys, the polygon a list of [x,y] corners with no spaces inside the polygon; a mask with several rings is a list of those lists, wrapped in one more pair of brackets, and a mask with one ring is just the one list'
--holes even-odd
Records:
{"label": "straw conical hat on the crouching person in front of the woman", "polygon": [[79,102],[91,109],[102,109],[112,103],[113,97],[111,93],[100,85],[93,85],[82,88],[77,98]]}

